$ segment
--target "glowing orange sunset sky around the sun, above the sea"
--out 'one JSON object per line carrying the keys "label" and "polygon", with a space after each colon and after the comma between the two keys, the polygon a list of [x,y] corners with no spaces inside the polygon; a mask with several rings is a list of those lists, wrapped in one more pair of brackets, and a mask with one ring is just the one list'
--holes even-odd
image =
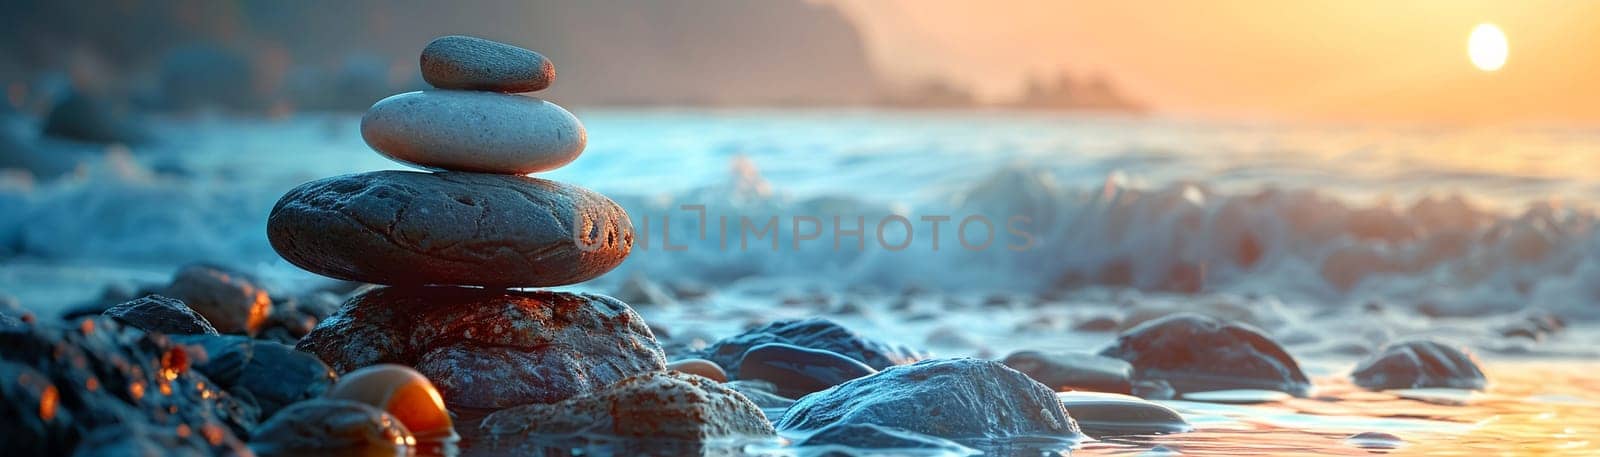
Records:
{"label": "glowing orange sunset sky around the sun, above the sea", "polygon": [[[1600,2],[827,0],[894,81],[984,97],[1102,72],[1160,112],[1226,118],[1600,121]],[[1509,59],[1467,58],[1474,26]]]}

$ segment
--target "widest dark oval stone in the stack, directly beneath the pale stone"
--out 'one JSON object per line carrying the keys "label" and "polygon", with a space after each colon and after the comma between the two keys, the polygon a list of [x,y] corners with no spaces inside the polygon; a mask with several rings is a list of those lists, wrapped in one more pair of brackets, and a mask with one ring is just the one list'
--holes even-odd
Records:
{"label": "widest dark oval stone in the stack, directly beneath the pale stone", "polygon": [[272,208],[267,240],[339,280],[546,288],[614,268],[634,225],[600,193],[554,181],[374,171],[294,187]]}

